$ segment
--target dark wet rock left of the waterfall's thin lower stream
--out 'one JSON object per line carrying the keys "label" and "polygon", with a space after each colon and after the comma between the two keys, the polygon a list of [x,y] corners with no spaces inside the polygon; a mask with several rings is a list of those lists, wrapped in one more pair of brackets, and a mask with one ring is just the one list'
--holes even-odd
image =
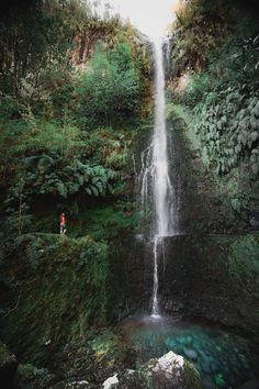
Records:
{"label": "dark wet rock left of the waterfall's thin lower stream", "polygon": [[117,244],[111,255],[110,316],[122,319],[150,308],[153,290],[151,242],[132,236]]}

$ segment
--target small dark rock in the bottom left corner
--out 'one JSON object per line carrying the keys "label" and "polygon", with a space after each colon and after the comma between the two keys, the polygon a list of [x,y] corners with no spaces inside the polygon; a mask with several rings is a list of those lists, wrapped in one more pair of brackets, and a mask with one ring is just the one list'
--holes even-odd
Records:
{"label": "small dark rock in the bottom left corner", "polygon": [[0,342],[0,384],[1,388],[11,389],[18,368],[18,360],[8,347]]}

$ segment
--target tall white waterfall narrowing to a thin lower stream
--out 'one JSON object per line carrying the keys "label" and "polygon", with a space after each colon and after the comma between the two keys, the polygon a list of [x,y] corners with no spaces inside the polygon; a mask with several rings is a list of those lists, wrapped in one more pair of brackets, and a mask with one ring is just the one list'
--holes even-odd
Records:
{"label": "tall white waterfall narrowing to a thin lower stream", "polygon": [[165,114],[164,41],[154,41],[155,60],[155,126],[150,145],[142,154],[140,203],[145,214],[154,209],[151,223],[154,287],[151,315],[159,316],[159,256],[164,253],[164,238],[177,233],[173,212],[174,192],[169,175],[168,142]]}

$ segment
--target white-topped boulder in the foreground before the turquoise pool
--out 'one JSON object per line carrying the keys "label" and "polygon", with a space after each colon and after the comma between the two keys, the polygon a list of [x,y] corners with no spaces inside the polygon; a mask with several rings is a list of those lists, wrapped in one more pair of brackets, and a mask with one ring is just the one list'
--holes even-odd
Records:
{"label": "white-topped boulder in the foreground before the turquoise pool", "polygon": [[139,370],[126,370],[110,377],[103,389],[202,389],[199,373],[182,356],[169,352],[150,359]]}

